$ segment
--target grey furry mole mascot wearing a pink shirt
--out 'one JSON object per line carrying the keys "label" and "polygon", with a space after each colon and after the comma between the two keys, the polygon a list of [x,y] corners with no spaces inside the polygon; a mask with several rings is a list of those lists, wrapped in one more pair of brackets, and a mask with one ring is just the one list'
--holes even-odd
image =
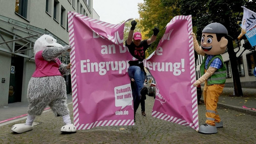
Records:
{"label": "grey furry mole mascot wearing a pink shirt", "polygon": [[61,132],[76,132],[71,124],[66,100],[66,84],[63,74],[70,73],[71,64],[62,64],[58,59],[64,52],[70,52],[70,46],[62,46],[50,35],[42,35],[34,43],[35,72],[28,85],[29,101],[26,124],[16,124],[12,131],[23,133],[33,129],[36,115],[41,115],[46,106],[50,106],[55,116],[62,116],[65,126]]}

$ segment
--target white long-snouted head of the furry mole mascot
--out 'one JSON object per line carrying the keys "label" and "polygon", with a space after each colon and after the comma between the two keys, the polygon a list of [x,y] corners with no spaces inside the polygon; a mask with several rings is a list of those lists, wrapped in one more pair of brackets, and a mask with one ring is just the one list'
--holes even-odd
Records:
{"label": "white long-snouted head of the furry mole mascot", "polygon": [[44,50],[45,48],[53,48],[53,47],[63,47],[61,44],[58,44],[56,39],[50,35],[44,34],[39,37],[34,43],[34,54],[36,54],[40,50]]}

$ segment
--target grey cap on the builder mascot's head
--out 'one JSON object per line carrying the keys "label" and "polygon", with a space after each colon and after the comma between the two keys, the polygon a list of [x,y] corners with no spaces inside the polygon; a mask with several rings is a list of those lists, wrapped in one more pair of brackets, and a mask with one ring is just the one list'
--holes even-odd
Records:
{"label": "grey cap on the builder mascot's head", "polygon": [[227,29],[224,27],[224,25],[220,23],[210,23],[208,24],[202,32],[205,33],[222,33],[222,34],[227,34]]}

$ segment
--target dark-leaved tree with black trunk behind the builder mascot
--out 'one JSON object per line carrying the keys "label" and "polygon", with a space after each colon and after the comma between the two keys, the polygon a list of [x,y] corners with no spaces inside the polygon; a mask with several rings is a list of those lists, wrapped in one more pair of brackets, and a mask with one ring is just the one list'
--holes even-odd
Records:
{"label": "dark-leaved tree with black trunk behind the builder mascot", "polygon": [[201,39],[203,28],[212,22],[222,23],[228,31],[227,52],[232,68],[235,96],[243,96],[237,65],[237,52],[234,51],[234,41],[240,34],[242,8],[255,8],[256,0],[180,0],[181,14],[192,15],[192,23],[197,30],[197,39]]}

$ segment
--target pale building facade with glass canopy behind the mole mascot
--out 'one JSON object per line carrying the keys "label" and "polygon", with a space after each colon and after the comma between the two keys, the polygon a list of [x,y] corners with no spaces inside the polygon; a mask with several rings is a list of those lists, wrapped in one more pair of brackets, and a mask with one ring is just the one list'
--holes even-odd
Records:
{"label": "pale building facade with glass canopy behind the mole mascot", "polygon": [[[27,87],[35,70],[33,44],[50,34],[68,45],[67,12],[99,19],[93,0],[0,0],[0,106],[27,101]],[[69,53],[60,57],[69,63]],[[70,76],[65,76],[67,90]]]}

